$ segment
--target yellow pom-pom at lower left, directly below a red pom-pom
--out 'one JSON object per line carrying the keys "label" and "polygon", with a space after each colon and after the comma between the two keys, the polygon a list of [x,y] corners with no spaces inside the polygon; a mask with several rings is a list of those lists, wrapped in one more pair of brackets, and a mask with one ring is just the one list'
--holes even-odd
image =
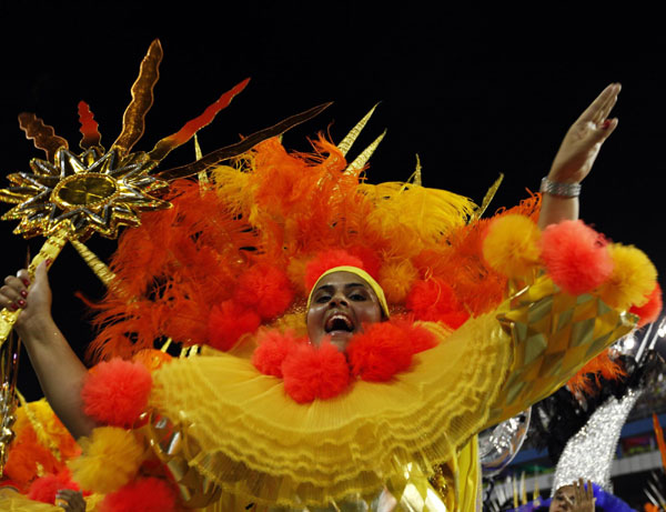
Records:
{"label": "yellow pom-pom at lower left, directly below a red pom-pom", "polygon": [[100,426],[79,443],[83,453],[68,465],[81,489],[107,494],[127,484],[143,462],[144,450],[131,431]]}

